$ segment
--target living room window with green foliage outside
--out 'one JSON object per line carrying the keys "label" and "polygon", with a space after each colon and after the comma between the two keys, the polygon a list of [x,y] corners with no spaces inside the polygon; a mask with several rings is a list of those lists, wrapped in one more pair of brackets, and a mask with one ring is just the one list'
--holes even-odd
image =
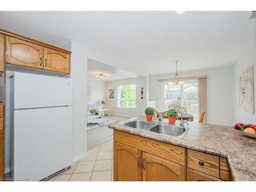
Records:
{"label": "living room window with green foliage outside", "polygon": [[136,109],[136,84],[118,86],[117,106]]}

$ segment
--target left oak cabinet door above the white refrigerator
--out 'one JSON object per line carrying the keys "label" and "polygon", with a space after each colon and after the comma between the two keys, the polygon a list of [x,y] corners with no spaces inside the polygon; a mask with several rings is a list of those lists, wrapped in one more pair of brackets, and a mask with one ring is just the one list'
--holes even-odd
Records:
{"label": "left oak cabinet door above the white refrigerator", "polygon": [[43,47],[25,40],[6,36],[6,62],[42,69]]}

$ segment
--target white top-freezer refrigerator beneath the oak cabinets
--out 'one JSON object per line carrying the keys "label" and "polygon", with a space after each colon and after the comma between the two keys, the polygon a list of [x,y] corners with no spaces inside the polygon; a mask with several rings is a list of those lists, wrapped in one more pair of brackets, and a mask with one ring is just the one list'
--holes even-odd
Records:
{"label": "white top-freezer refrigerator beneath the oak cabinets", "polygon": [[72,81],[14,72],[12,176],[39,181],[72,164]]}

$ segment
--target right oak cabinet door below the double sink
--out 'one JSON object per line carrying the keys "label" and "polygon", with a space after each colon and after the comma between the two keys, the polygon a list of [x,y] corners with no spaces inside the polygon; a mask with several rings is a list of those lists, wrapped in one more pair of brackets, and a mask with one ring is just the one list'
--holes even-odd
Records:
{"label": "right oak cabinet door below the double sink", "polygon": [[185,181],[186,168],[151,154],[142,153],[143,181]]}

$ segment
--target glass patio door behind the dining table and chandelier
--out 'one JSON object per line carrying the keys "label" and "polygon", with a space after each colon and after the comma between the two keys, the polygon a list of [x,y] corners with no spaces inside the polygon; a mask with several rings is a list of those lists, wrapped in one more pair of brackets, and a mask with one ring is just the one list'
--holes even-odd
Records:
{"label": "glass patio door behind the dining table and chandelier", "polygon": [[185,81],[183,86],[168,86],[164,84],[164,111],[170,108],[183,106],[187,113],[194,116],[198,121],[198,92],[197,79]]}

